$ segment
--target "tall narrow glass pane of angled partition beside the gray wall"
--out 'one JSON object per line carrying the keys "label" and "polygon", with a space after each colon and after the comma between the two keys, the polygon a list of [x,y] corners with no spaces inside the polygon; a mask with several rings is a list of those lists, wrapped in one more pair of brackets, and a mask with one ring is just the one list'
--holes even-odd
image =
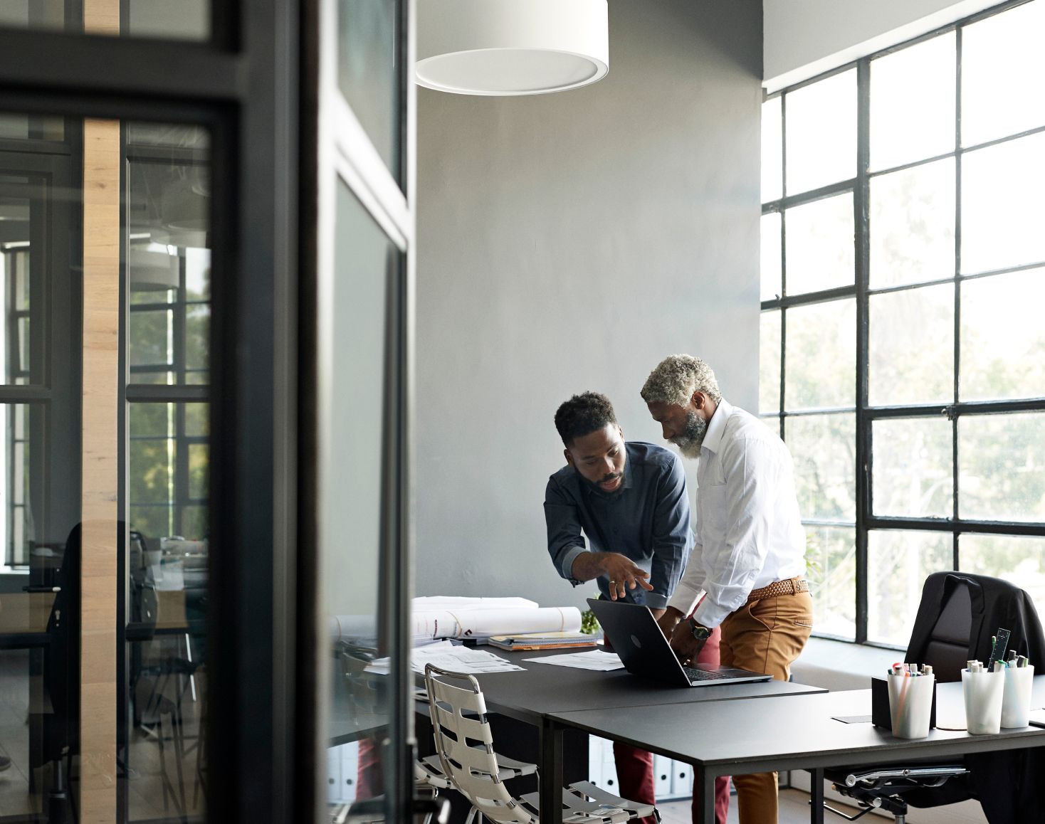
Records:
{"label": "tall narrow glass pane of angled partition beside the gray wall", "polygon": [[[387,554],[388,335],[397,250],[351,191],[340,184],[326,386],[328,430],[320,509],[324,599],[333,634],[329,708],[330,803],[385,793],[391,704],[381,559]],[[349,585],[349,582],[351,584]],[[351,763],[349,769],[345,764]],[[336,764],[336,767],[334,767]],[[336,773],[335,773],[336,770]]]}

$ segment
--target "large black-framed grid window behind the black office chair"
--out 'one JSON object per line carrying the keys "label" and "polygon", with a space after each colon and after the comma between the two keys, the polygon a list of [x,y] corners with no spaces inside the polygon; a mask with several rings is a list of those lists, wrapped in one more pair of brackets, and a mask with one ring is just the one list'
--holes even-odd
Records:
{"label": "large black-framed grid window behind the black office chair", "polygon": [[760,413],[820,635],[903,646],[925,576],[1045,608],[1045,0],[763,104]]}

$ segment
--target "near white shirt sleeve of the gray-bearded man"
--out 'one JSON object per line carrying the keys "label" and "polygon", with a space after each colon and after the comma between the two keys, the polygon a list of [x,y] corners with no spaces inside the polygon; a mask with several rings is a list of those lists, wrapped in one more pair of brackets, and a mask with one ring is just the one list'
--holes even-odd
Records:
{"label": "near white shirt sleeve of the gray-bearded man", "polygon": [[721,549],[704,558],[707,597],[694,613],[704,627],[717,627],[740,609],[762,571],[769,548],[773,485],[779,472],[772,446],[754,439],[729,444],[722,453],[722,467],[725,540]]}

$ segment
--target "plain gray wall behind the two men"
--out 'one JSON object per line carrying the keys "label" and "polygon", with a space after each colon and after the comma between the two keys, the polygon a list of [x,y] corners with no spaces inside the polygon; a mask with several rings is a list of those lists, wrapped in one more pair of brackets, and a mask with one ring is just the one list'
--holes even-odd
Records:
{"label": "plain gray wall behind the two men", "polygon": [[[585,89],[418,89],[417,593],[581,605],[548,557],[559,403],[638,390],[667,354],[753,409],[760,0],[610,0]],[[690,467],[691,497],[695,487]]]}

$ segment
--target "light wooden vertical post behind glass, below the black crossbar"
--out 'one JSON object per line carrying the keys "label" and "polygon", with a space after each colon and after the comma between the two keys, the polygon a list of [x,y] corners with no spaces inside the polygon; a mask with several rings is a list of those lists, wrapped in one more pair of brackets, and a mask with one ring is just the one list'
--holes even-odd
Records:
{"label": "light wooden vertical post behind glass, below the black crossbar", "polygon": [[119,284],[120,124],[89,119],[84,121],[79,673],[79,820],[84,824],[116,821]]}

